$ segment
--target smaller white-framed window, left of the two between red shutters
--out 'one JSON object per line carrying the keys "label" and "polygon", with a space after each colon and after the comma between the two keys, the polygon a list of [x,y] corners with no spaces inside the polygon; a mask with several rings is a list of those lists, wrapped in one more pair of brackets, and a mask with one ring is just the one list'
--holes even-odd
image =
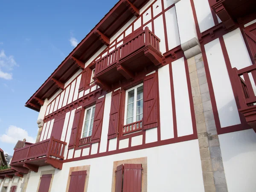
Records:
{"label": "smaller white-framed window, left of the two between red shutters", "polygon": [[92,135],[95,106],[96,105],[85,110],[82,138]]}

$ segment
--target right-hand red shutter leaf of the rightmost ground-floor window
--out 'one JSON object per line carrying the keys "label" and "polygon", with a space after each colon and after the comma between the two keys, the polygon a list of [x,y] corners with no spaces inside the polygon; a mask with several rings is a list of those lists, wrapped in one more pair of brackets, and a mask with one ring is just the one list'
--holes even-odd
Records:
{"label": "right-hand red shutter leaf of the rightmost ground-floor window", "polygon": [[142,164],[125,164],[122,192],[141,192]]}

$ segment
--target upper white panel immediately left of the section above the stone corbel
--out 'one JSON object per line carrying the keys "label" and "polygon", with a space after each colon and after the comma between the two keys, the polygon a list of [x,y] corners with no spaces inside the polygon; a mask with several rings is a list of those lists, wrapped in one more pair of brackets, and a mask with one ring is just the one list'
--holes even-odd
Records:
{"label": "upper white panel immediately left of the section above the stone corbel", "polygon": [[180,45],[179,29],[176,17],[175,7],[165,12],[166,30],[169,50]]}

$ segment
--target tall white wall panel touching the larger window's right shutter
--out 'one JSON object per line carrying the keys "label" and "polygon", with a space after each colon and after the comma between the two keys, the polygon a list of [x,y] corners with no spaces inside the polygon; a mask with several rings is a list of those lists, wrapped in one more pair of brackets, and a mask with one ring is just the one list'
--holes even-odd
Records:
{"label": "tall white wall panel touching the larger window's right shutter", "polygon": [[[174,137],[169,64],[158,69],[161,140]],[[147,137],[146,137],[146,140]]]}

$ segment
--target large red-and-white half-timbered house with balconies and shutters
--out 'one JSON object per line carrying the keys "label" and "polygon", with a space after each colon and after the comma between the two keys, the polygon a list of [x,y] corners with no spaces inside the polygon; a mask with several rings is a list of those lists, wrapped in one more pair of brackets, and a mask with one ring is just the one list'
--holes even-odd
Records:
{"label": "large red-and-white half-timbered house with balconies and shutters", "polygon": [[26,102],[38,137],[0,188],[254,192],[255,7],[120,0]]}

